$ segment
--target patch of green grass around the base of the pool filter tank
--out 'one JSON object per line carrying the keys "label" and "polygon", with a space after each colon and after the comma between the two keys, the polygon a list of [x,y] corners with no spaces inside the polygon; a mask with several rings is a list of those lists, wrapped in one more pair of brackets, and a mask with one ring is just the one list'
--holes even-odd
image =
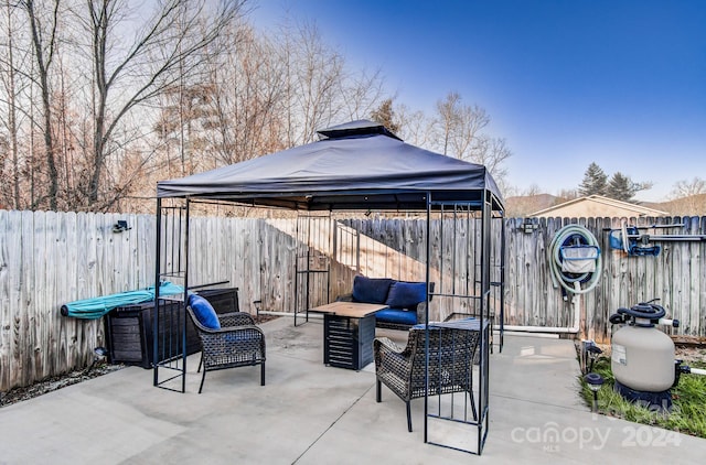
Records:
{"label": "patch of green grass around the base of the pool filter tank", "polygon": [[[689,364],[703,368],[705,364]],[[605,379],[598,391],[598,412],[641,424],[664,428],[706,439],[706,377],[682,375],[678,385],[672,391],[672,411],[653,411],[637,403],[629,402],[613,390],[616,379],[610,369],[610,358],[599,357],[593,365],[593,372]],[[593,392],[584,378],[579,379],[581,396],[587,404],[592,405]]]}

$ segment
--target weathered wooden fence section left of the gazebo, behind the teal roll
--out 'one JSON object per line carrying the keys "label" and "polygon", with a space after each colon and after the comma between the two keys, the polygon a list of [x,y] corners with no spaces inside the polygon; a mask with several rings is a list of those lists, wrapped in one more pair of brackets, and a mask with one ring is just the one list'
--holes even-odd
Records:
{"label": "weathered wooden fence section left of the gazebo, behind the teal roll", "polygon": [[[118,219],[131,229],[113,233]],[[93,359],[103,320],[60,306],[150,285],[154,235],[145,215],[0,210],[0,391]]]}

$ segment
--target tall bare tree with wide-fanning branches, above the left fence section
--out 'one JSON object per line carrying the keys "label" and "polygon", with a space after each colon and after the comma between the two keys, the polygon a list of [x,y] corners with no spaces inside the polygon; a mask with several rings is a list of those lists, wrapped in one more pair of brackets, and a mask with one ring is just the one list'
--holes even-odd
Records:
{"label": "tall bare tree with wide-fanning branches, above the left fence section", "polygon": [[[95,88],[87,205],[95,206],[105,193],[106,161],[119,148],[114,138],[126,115],[199,71],[208,45],[242,12],[245,1],[224,0],[212,15],[206,14],[205,0],[159,2],[131,41],[117,31],[129,28],[143,10],[118,0],[86,3],[86,14],[79,18],[92,37]],[[101,199],[104,208],[116,198]]]}

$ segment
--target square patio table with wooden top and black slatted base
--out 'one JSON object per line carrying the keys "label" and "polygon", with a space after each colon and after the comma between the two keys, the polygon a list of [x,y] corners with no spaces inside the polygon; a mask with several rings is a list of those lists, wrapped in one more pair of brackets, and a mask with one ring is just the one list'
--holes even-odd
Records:
{"label": "square patio table with wooden top and black slatted base", "polygon": [[323,363],[360,370],[373,361],[375,312],[387,305],[332,302],[310,310],[323,313]]}

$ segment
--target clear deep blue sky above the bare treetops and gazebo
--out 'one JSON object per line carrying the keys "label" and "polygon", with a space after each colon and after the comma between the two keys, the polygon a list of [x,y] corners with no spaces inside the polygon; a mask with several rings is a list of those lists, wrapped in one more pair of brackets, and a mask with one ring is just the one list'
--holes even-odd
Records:
{"label": "clear deep blue sky above the bare treetops and gazebo", "polygon": [[259,0],[256,25],[315,22],[351,66],[431,113],[458,91],[513,151],[510,183],[556,194],[591,162],[652,181],[706,179],[706,1]]}

